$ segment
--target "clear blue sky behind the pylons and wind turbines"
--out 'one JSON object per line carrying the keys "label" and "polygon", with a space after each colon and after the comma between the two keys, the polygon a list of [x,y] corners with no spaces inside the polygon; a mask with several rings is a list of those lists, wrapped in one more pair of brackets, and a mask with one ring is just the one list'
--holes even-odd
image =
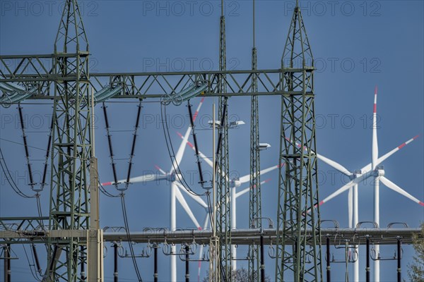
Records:
{"label": "clear blue sky behind the pylons and wind turbines", "polygon": [[[47,3],[48,2],[48,3]],[[423,1],[300,1],[312,51],[318,68],[315,75],[317,146],[319,154],[334,159],[350,170],[359,169],[371,161],[372,102],[375,85],[379,87],[379,152],[401,145],[420,135],[384,161],[387,178],[411,195],[424,200],[424,4]],[[220,1],[81,1],[83,20],[90,42],[92,72],[131,71],[198,71],[218,68]],[[61,1],[0,1],[1,54],[49,54],[60,18]],[[257,1],[258,66],[261,69],[280,67],[281,55],[294,1]],[[251,1],[225,1],[227,25],[228,68],[249,69],[252,49]],[[261,153],[261,167],[278,163],[280,99],[261,97],[261,142],[271,148]],[[192,101],[194,105],[199,99]],[[213,99],[206,99],[201,109],[199,129],[207,129],[200,121],[211,115]],[[136,103],[110,103],[112,130],[132,130]],[[97,106],[96,154],[100,180],[112,180],[107,152],[104,121]],[[230,134],[230,170],[243,176],[249,173],[249,98],[230,99],[229,113],[247,124]],[[28,142],[33,147],[45,147],[51,105],[24,105],[28,123]],[[189,120],[185,106],[168,109],[172,142],[178,147],[176,131],[184,133]],[[147,123],[151,121],[153,123]],[[154,165],[168,170],[171,166],[160,128],[160,106],[148,103],[143,108],[143,125],[139,131],[134,159],[134,176],[155,171]],[[182,121],[182,123],[181,123]],[[205,122],[204,122],[205,123]],[[15,106],[0,108],[1,138],[21,142]],[[211,131],[198,131],[201,150],[211,156]],[[115,155],[128,158],[131,132],[113,133]],[[1,141],[1,149],[16,181],[30,193],[25,175],[23,147]],[[38,179],[42,171],[44,152],[30,149],[33,169]],[[119,178],[125,178],[127,161],[117,161]],[[206,167],[206,164],[204,164]],[[181,164],[183,171],[195,171],[192,150],[187,149]],[[320,198],[343,185],[342,176],[333,168],[319,163],[322,172]],[[36,179],[37,179],[36,178]],[[271,178],[263,186],[263,215],[276,219],[278,173],[273,171],[262,179]],[[200,188],[193,185],[194,189]],[[113,191],[114,192],[114,191]],[[13,193],[1,176],[0,216],[35,216],[35,201],[23,200]],[[372,221],[373,192],[370,180],[360,185],[360,221]],[[169,185],[149,183],[131,185],[126,192],[129,224],[132,231],[146,226],[169,226]],[[187,199],[199,221],[204,209]],[[416,227],[424,219],[424,209],[383,185],[380,188],[380,225],[406,222]],[[48,188],[42,192],[43,213],[48,214]],[[101,225],[122,226],[119,200],[102,197]],[[347,192],[322,206],[322,219],[336,219],[347,226]],[[237,226],[248,227],[248,197],[237,202]],[[193,224],[177,204],[177,226]],[[107,247],[112,252],[109,244]],[[39,247],[40,253],[45,255]],[[13,247],[20,257],[13,261],[14,281],[32,281],[21,246]],[[411,261],[411,247],[404,247],[403,266]],[[361,249],[363,255],[364,250]],[[382,247],[382,255],[392,255],[394,247]],[[247,248],[240,247],[239,256]],[[107,255],[107,281],[112,279],[112,255]],[[335,252],[335,255],[342,255]],[[167,281],[168,259],[160,259],[160,281]],[[120,264],[122,281],[135,281],[131,262]],[[239,265],[243,263],[240,262]],[[153,259],[140,259],[145,281],[153,279]],[[3,266],[0,266],[2,269]],[[338,267],[338,270],[336,268]],[[382,262],[382,281],[394,281],[395,262]],[[43,263],[45,269],[45,263]],[[191,266],[196,280],[197,264]],[[207,265],[203,264],[202,276]],[[179,262],[178,278],[183,280],[183,264]],[[267,259],[266,273],[273,277],[274,262]],[[334,266],[334,281],[343,280],[343,267]],[[365,259],[361,260],[364,278]],[[3,271],[3,270],[2,270]],[[350,271],[353,271],[352,267]],[[406,277],[406,271],[404,271]],[[129,278],[127,280],[123,278]],[[130,278],[134,279],[131,280]],[[16,279],[16,280],[15,280]]]}

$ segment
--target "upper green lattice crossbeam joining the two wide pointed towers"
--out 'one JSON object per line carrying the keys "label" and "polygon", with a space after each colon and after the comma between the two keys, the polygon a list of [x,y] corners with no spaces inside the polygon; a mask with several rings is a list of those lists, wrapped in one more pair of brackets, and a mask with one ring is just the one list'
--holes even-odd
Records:
{"label": "upper green lattice crossbeam joining the two wide pointed towers", "polygon": [[[84,54],[79,54],[83,56]],[[54,83],[76,80],[76,74],[55,75],[54,68],[60,68],[65,55],[24,55],[0,56],[0,82],[13,82],[30,89],[30,99],[53,99]],[[77,54],[66,54],[69,58]],[[179,71],[146,73],[90,73],[87,83],[95,92],[104,87],[122,87],[114,98],[162,98],[172,96],[189,85],[207,85],[202,94],[205,97],[251,96],[251,95],[299,95],[302,92],[289,92],[283,82],[290,73],[305,73],[305,79],[314,71],[312,67],[283,68],[271,70],[244,71]],[[257,78],[257,89],[252,87],[252,76]],[[225,87],[220,87],[223,81]],[[226,92],[220,89],[226,88]]]}

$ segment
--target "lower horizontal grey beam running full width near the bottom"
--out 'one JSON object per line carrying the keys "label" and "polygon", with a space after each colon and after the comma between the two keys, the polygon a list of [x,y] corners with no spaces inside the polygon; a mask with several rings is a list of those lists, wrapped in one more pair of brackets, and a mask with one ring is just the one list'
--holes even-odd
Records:
{"label": "lower horizontal grey beam running full width near the bottom", "polygon": [[[322,240],[331,238],[331,245],[344,245],[348,240],[349,245],[363,245],[366,238],[370,238],[373,243],[379,245],[395,245],[397,238],[402,238],[402,243],[411,244],[413,235],[420,234],[420,228],[322,228]],[[307,235],[310,231],[306,232]],[[231,242],[237,245],[259,244],[261,235],[264,236],[266,245],[275,245],[276,229],[236,229],[231,231]],[[190,243],[193,240],[199,244],[208,244],[212,236],[210,230],[178,230],[167,231],[148,230],[142,232],[131,232],[131,241],[135,243],[164,243],[181,244]],[[0,244],[13,243],[45,243],[47,238],[57,239],[57,243],[65,242],[67,238],[87,237],[87,231],[0,231]],[[128,241],[126,232],[105,232],[105,242]]]}

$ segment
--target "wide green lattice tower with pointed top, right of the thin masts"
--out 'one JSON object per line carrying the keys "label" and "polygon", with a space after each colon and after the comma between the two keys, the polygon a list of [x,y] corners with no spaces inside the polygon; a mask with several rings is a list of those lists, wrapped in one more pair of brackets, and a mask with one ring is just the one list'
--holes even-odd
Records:
{"label": "wide green lattice tower with pointed top, right of the thin masts", "polygon": [[[276,281],[322,281],[314,59],[296,1],[281,61]],[[307,235],[307,230],[312,235]],[[289,243],[289,241],[294,243]]]}

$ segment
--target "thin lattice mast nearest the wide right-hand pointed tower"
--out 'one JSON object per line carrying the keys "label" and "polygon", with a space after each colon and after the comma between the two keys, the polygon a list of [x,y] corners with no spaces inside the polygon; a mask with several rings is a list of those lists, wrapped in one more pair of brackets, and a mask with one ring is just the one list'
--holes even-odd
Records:
{"label": "thin lattice mast nearest the wide right-hand pointed tower", "polygon": [[[257,70],[257,49],[254,32],[253,0],[253,45],[252,70]],[[252,75],[252,92],[258,92],[257,75]],[[249,226],[261,228],[261,170],[259,162],[259,102],[257,95],[251,98],[250,119],[250,190],[249,190]],[[259,246],[249,246],[249,281],[259,281]]]}

